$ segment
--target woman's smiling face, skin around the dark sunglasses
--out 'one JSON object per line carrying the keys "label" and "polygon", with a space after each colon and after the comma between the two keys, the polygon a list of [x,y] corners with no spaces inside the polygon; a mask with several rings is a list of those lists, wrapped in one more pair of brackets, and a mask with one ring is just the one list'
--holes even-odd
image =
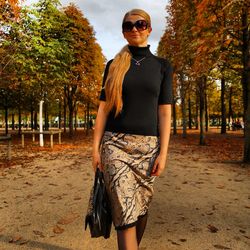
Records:
{"label": "woman's smiling face, skin around the dark sunglasses", "polygon": [[[132,22],[134,24],[139,20],[145,21],[145,19],[139,15],[130,15],[126,18],[125,22]],[[128,41],[129,45],[145,47],[148,44],[148,36],[151,31],[151,27],[148,27],[145,30],[137,30],[134,26],[131,31],[123,31],[123,36]]]}

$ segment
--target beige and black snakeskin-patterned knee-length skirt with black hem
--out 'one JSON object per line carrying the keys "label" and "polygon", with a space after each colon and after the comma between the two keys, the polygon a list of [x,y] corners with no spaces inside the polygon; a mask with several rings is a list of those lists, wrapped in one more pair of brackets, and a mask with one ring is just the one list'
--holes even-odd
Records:
{"label": "beige and black snakeskin-patterned knee-length skirt with black hem", "polygon": [[116,229],[132,227],[147,214],[155,179],[150,174],[158,153],[157,136],[105,131],[101,161]]}

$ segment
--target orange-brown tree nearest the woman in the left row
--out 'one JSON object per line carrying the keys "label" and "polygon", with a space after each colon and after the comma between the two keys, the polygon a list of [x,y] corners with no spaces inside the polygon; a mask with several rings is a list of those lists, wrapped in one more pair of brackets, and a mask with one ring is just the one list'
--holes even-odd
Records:
{"label": "orange-brown tree nearest the woman in the left row", "polygon": [[[79,98],[84,98],[87,104],[92,99],[90,93],[96,91],[101,84],[101,72],[104,58],[94,37],[93,28],[82,12],[71,4],[64,8],[68,17],[68,26],[65,32],[70,34],[67,41],[72,57],[67,70],[65,95],[69,109],[69,129],[73,135],[73,114]],[[83,101],[83,99],[81,100]]]}

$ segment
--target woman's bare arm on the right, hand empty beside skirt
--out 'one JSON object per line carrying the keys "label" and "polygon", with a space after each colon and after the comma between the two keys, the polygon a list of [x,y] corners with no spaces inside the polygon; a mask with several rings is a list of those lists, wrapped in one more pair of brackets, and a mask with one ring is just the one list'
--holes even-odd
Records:
{"label": "woman's bare arm on the right, hand empty beside skirt", "polygon": [[168,154],[168,144],[171,132],[171,104],[159,105],[160,153],[155,160],[151,175],[159,176],[163,172]]}

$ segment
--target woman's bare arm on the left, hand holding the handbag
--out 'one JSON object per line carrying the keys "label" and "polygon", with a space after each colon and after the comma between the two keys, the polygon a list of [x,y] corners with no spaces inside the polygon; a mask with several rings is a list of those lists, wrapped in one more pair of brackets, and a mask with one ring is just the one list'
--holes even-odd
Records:
{"label": "woman's bare arm on the left, hand holding the handbag", "polygon": [[92,166],[94,171],[96,171],[97,167],[99,167],[100,170],[103,170],[103,166],[101,165],[100,145],[106,122],[107,112],[105,111],[105,102],[101,101],[97,112],[93,139]]}

